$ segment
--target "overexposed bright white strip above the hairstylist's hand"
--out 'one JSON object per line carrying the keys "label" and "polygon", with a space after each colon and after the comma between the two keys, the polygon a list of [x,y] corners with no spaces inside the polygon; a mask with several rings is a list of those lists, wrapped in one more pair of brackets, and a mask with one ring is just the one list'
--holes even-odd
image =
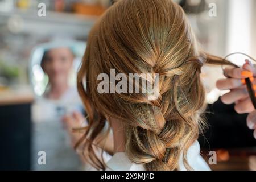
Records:
{"label": "overexposed bright white strip above the hairstylist's hand", "polygon": [[[228,7],[227,53],[242,52],[255,55],[255,1],[229,0]],[[238,65],[244,63],[244,56],[236,55],[234,58]]]}

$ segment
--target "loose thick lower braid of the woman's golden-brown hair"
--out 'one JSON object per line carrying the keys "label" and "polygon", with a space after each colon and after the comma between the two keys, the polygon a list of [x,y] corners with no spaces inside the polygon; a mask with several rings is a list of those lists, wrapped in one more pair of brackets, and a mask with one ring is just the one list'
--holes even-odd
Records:
{"label": "loose thick lower braid of the woman's golden-brown hair", "polygon": [[[187,69],[198,67],[201,64],[197,63],[197,61],[198,60],[188,61],[190,66],[188,66],[187,63],[184,67]],[[181,152],[186,154],[188,147],[191,146],[197,138],[197,134],[194,133],[197,133],[196,128],[198,125],[191,121],[193,115],[189,115],[188,111],[184,113],[183,109],[189,106],[189,102],[187,98],[180,98],[182,94],[178,93],[179,90],[182,89],[180,88],[181,85],[178,74],[180,71],[184,72],[185,68],[172,70],[172,74],[175,75],[172,79],[170,79],[170,74],[159,74],[162,75],[162,78],[171,80],[174,83],[171,84],[170,82],[170,85],[173,85],[170,90],[159,90],[160,93],[163,93],[163,96],[159,95],[159,98],[161,98],[160,105],[141,103],[139,107],[137,107],[137,110],[134,110],[133,114],[135,118],[139,118],[141,122],[146,123],[148,127],[146,127],[146,129],[145,127],[142,128],[139,126],[127,127],[127,154],[133,162],[145,164],[147,170],[179,169],[179,156]],[[175,71],[177,71],[177,73],[175,73]],[[196,76],[199,76],[199,74],[196,73]],[[184,100],[186,102],[184,102]],[[171,106],[175,107],[171,109]],[[196,108],[196,110],[197,109],[198,108]],[[168,112],[172,110],[174,111],[173,113]],[[174,113],[177,113],[177,115],[175,116]],[[188,134],[190,136],[185,138]],[[182,148],[181,146],[184,147]],[[185,166],[190,169],[185,155],[183,158]]]}

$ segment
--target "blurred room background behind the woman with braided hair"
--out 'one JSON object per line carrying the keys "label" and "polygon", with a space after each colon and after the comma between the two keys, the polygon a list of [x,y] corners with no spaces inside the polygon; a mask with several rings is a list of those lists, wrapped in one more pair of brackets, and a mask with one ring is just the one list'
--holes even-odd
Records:
{"label": "blurred room background behind the woman with braided hair", "polygon": [[[243,52],[256,58],[256,1],[176,0],[201,46],[217,56]],[[46,16],[38,11],[46,5]],[[61,117],[84,112],[75,84],[90,28],[110,0],[0,0],[0,169],[80,170]],[[146,3],[146,1],[145,1]],[[229,57],[242,65],[246,57]],[[209,129],[200,136],[212,169],[255,170],[256,140],[246,115],[222,105],[215,88],[221,68],[203,68]],[[209,81],[210,80],[210,81]],[[61,85],[61,86],[60,86]],[[46,151],[47,164],[38,163]]]}

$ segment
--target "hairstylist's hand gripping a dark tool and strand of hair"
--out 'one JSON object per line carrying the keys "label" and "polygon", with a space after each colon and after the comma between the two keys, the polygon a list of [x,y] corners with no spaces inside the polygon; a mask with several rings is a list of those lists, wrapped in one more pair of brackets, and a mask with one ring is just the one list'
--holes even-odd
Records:
{"label": "hairstylist's hand gripping a dark tool and strand of hair", "polygon": [[243,68],[226,68],[224,75],[228,78],[218,80],[217,88],[220,90],[230,90],[229,93],[221,97],[224,104],[235,103],[234,109],[237,113],[250,113],[254,111],[254,106],[251,103],[249,94],[245,85],[245,78],[250,78],[253,81],[253,88],[256,89],[256,69],[253,65],[246,60]]}

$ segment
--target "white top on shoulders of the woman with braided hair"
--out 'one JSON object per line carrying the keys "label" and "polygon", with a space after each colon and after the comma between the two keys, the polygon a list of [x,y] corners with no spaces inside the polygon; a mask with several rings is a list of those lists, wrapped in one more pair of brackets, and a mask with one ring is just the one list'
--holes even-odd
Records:
{"label": "white top on shoulders of the woman with braided hair", "polygon": [[[200,155],[200,144],[195,142],[188,149],[187,159],[189,165],[195,171],[210,171],[208,164]],[[125,152],[119,152],[106,163],[107,171],[145,171],[143,164],[135,164],[130,161]],[[184,167],[182,157],[179,160],[179,167],[181,171],[187,171]]]}

